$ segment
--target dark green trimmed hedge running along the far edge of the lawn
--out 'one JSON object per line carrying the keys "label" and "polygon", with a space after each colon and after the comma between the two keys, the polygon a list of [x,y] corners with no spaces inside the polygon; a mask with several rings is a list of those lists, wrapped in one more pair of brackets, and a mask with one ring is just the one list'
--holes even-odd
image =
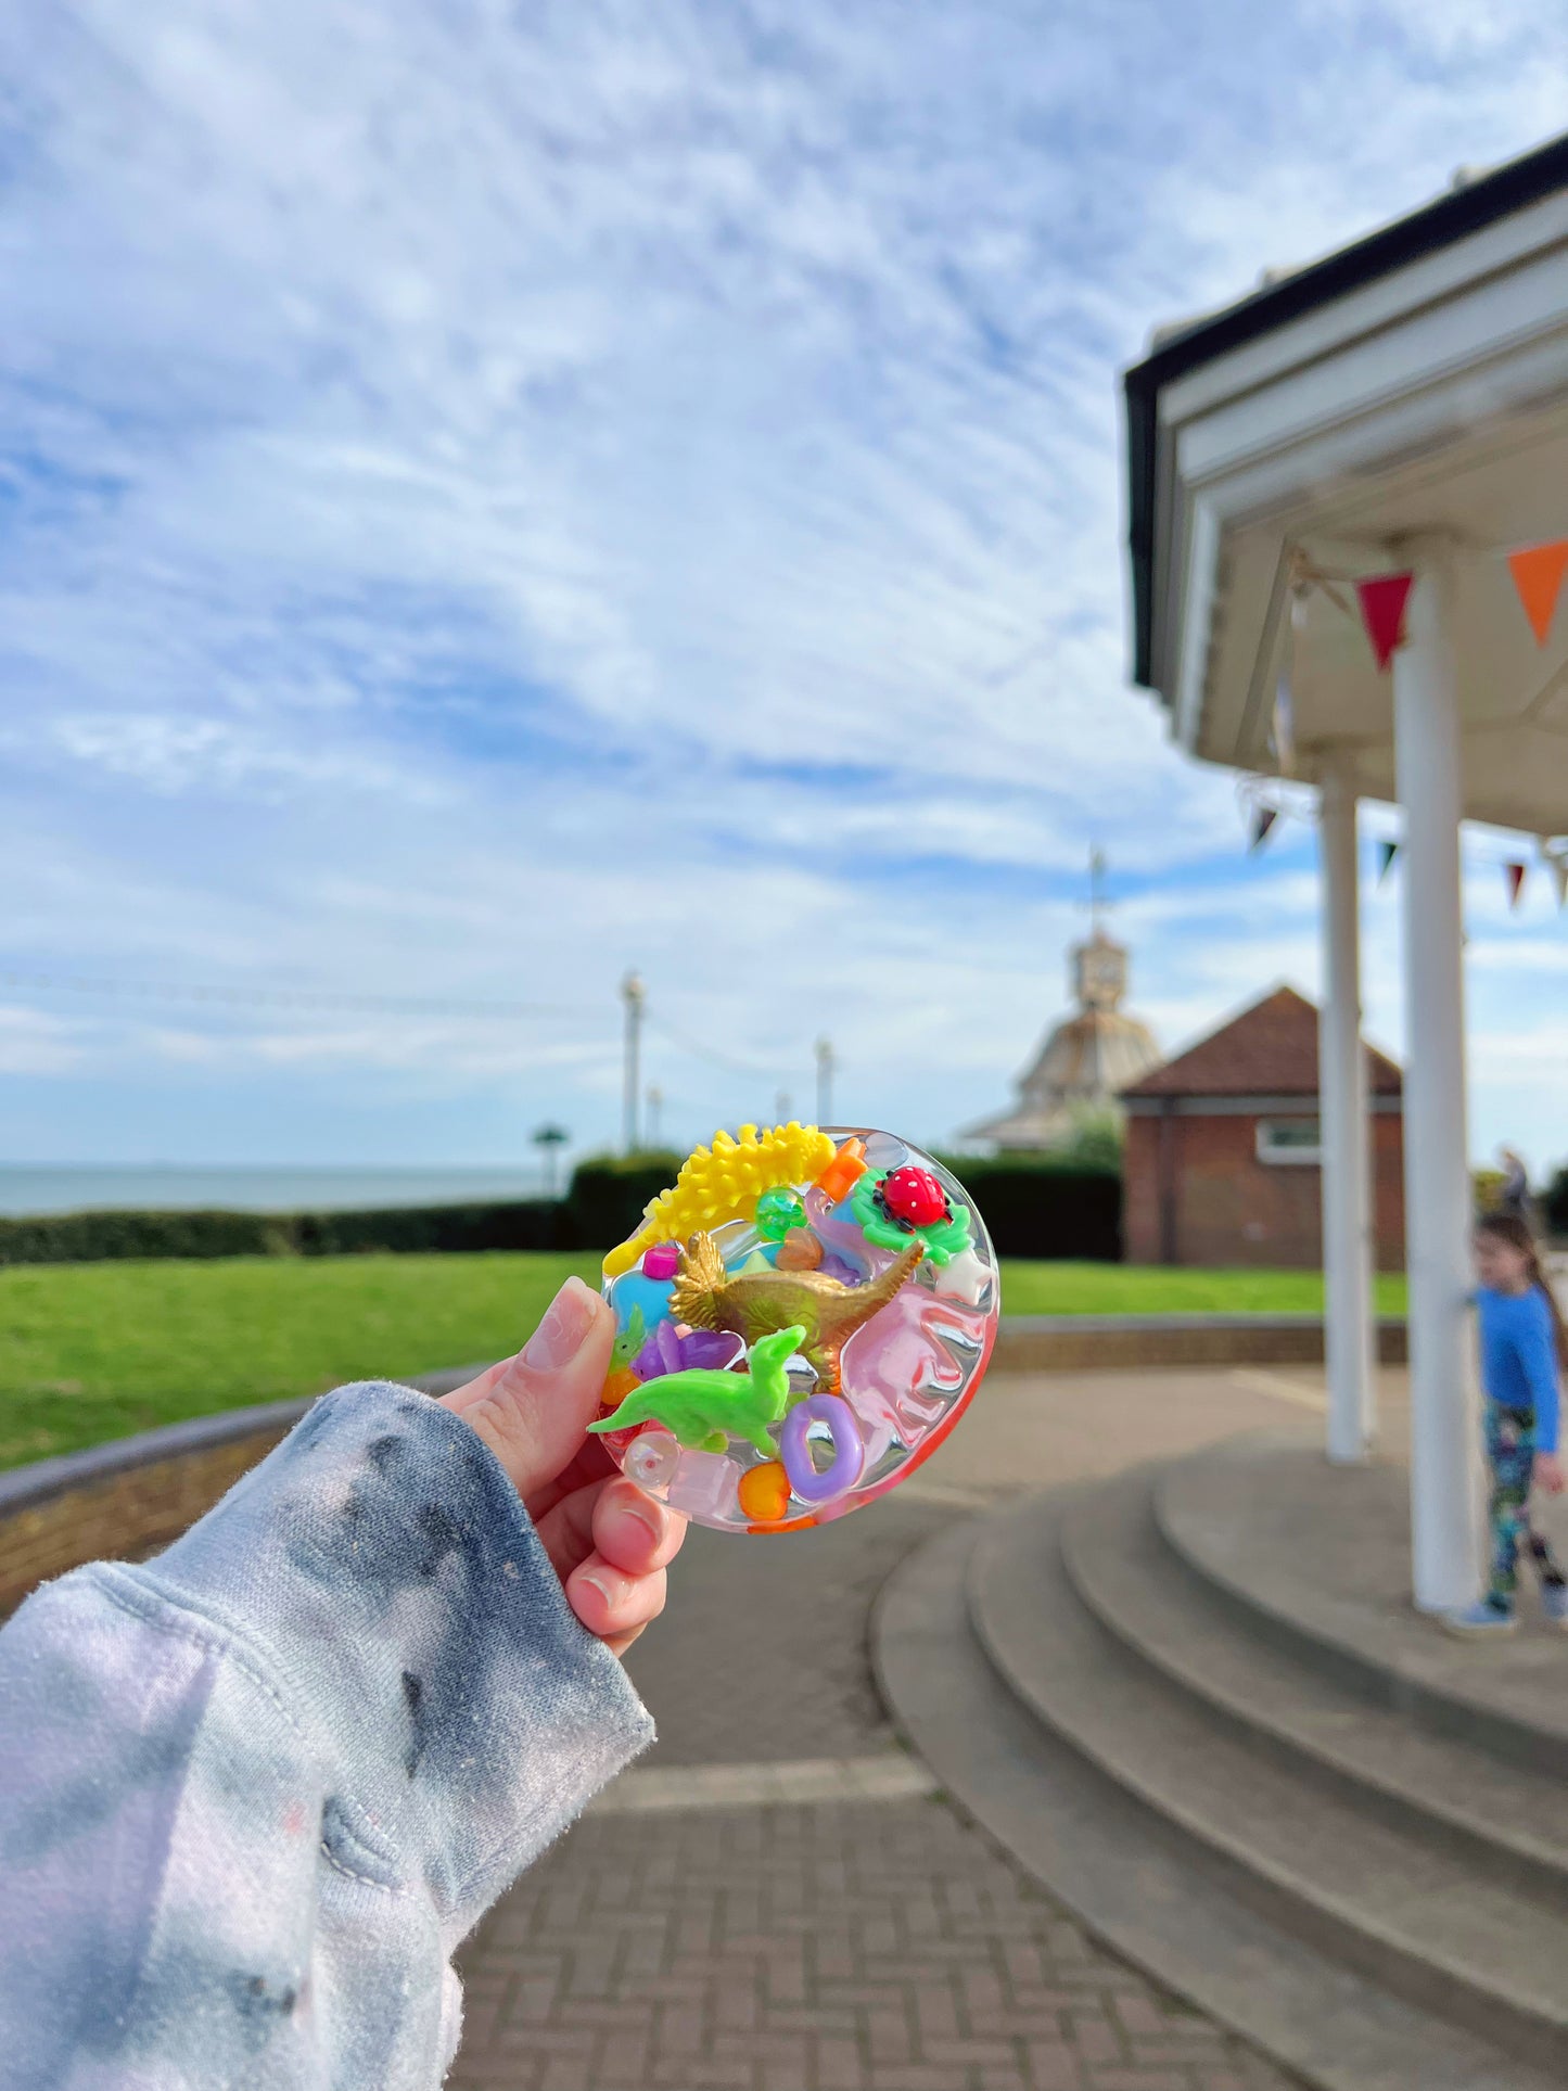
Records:
{"label": "dark green trimmed hedge running along the far edge of the lawn", "polygon": [[[0,1263],[113,1257],[351,1257],[479,1248],[602,1250],[625,1240],[679,1154],[579,1163],[560,1200],[420,1204],[366,1213],[46,1213],[0,1217]],[[1004,1257],[1121,1257],[1121,1181],[1102,1169],[949,1161]]]}

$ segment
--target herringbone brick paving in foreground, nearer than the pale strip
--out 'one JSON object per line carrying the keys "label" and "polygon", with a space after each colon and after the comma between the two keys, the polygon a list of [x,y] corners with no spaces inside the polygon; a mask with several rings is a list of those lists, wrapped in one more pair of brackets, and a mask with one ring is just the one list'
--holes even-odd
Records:
{"label": "herringbone brick paving in foreground, nearer than the pale strip", "polygon": [[462,2091],[1275,2091],[941,1800],[598,1817],[468,1957]]}

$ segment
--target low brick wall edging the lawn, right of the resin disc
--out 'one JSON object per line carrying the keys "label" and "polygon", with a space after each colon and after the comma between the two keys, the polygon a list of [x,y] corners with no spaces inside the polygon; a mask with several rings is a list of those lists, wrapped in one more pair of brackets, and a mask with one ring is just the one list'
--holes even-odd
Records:
{"label": "low brick wall edging the lawn, right of the resin disc", "polygon": [[[1405,1324],[1378,1324],[1378,1359],[1405,1363]],[[993,1372],[1114,1372],[1158,1365],[1321,1365],[1321,1315],[1004,1315]]]}

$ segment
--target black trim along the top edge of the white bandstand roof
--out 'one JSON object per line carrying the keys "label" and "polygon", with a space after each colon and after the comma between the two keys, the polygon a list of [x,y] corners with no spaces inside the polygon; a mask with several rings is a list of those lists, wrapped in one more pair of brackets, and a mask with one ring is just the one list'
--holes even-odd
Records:
{"label": "black trim along the top edge of the white bandstand roof", "polygon": [[1568,132],[1482,174],[1466,188],[1451,188],[1407,217],[1369,232],[1353,247],[1313,261],[1292,276],[1254,291],[1213,318],[1194,320],[1183,332],[1133,364],[1123,376],[1127,399],[1127,544],[1133,575],[1133,682],[1150,688],[1154,636],[1154,479],[1158,395],[1171,378],[1256,341],[1259,335],[1359,291],[1422,255],[1453,247],[1499,217],[1568,188]]}

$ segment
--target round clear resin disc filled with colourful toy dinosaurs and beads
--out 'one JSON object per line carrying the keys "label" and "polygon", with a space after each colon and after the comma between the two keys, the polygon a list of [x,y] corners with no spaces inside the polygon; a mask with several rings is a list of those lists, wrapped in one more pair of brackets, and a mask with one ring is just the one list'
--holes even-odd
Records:
{"label": "round clear resin disc filled with colourful toy dinosaurs and beads", "polygon": [[884,1495],[947,1437],[997,1330],[981,1215],[868,1127],[696,1148],[604,1259],[600,1432],[698,1524],[790,1533]]}

